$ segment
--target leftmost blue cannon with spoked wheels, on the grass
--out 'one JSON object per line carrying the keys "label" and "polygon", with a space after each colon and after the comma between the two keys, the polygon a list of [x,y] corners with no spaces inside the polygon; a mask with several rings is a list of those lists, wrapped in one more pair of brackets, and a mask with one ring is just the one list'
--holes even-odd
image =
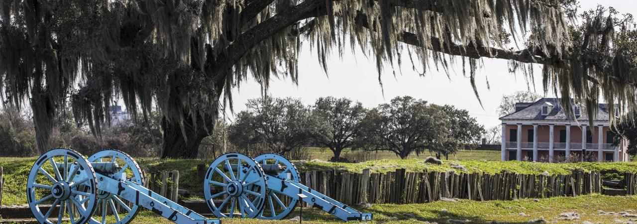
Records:
{"label": "leftmost blue cannon with spoked wheels, on the grass", "polygon": [[221,223],[148,190],[143,179],[140,166],[122,151],[103,150],[87,159],[58,148],[31,168],[27,200],[39,223],[125,224],[140,207],[175,223]]}

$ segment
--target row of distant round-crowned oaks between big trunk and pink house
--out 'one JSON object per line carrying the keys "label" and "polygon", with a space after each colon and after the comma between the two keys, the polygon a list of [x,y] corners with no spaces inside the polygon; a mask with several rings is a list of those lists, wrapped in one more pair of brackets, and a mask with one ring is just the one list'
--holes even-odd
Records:
{"label": "row of distant round-crowned oaks between big trunk and pink house", "polygon": [[468,111],[420,99],[396,97],[376,108],[347,98],[321,97],[311,105],[299,99],[251,99],[228,127],[239,150],[287,154],[304,146],[329,148],[342,161],[345,148],[392,151],[400,158],[426,151],[448,158],[475,144],[485,129]]}

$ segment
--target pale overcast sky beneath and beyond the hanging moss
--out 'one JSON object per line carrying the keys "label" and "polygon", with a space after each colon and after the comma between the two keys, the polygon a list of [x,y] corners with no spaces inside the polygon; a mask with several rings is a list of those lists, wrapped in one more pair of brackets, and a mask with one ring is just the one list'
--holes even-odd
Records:
{"label": "pale overcast sky beneath and beyond the hanging moss", "polygon": [[[613,6],[621,13],[637,16],[636,0],[582,0],[579,12],[596,8],[598,4]],[[506,60],[484,59],[476,76],[482,108],[473,94],[469,78],[462,76],[461,63],[454,66],[456,73],[451,74],[450,78],[443,71],[428,71],[426,76],[419,76],[405,57],[402,74],[397,73],[394,77],[388,67],[381,76],[383,87],[380,87],[375,61],[366,59],[362,53],[351,53],[348,50],[342,59],[338,55],[332,55],[328,66],[329,76],[322,71],[315,54],[308,45],[304,46],[299,55],[298,85],[294,85],[289,78],[275,78],[270,83],[269,94],[274,97],[297,97],[306,104],[313,104],[318,97],[330,95],[349,97],[362,102],[368,108],[389,102],[399,95],[411,95],[435,104],[452,104],[457,108],[467,109],[470,115],[488,128],[500,123],[496,110],[502,96],[517,90],[527,90],[529,87],[522,74],[508,73]],[[540,70],[536,71],[535,90],[538,94],[543,94]],[[490,90],[487,89],[487,78]],[[533,86],[530,88],[533,90]],[[233,92],[234,111],[245,109],[247,99],[260,96],[261,87],[258,83],[252,80],[242,83],[241,88]],[[547,96],[553,97],[550,92]],[[227,111],[227,114],[230,112]],[[233,120],[232,116],[227,118]]]}

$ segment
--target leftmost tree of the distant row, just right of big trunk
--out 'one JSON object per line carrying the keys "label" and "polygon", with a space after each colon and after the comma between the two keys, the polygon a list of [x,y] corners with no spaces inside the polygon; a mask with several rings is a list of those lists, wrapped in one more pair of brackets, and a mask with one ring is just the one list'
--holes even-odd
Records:
{"label": "leftmost tree of the distant row, just right of big trunk", "polygon": [[310,109],[299,99],[250,99],[229,127],[229,140],[243,149],[261,147],[262,153],[285,155],[309,143]]}

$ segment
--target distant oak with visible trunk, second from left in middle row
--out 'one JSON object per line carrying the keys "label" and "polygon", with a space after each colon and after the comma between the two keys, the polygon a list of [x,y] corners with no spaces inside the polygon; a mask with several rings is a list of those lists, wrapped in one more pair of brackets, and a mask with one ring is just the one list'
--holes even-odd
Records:
{"label": "distant oak with visible trunk, second from left in middle row", "polygon": [[318,98],[312,108],[313,143],[329,148],[334,153],[331,160],[340,161],[341,151],[352,146],[359,135],[365,112],[361,102],[348,98]]}

